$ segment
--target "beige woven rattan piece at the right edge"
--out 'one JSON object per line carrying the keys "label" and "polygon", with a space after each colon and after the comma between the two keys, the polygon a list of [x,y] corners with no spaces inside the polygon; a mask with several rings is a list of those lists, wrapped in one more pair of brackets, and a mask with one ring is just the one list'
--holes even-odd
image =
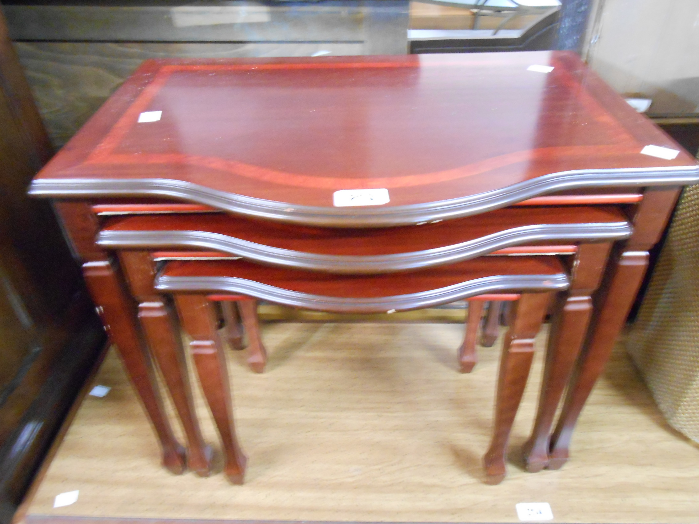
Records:
{"label": "beige woven rattan piece at the right edge", "polygon": [[680,199],[627,349],[670,425],[699,442],[699,186]]}

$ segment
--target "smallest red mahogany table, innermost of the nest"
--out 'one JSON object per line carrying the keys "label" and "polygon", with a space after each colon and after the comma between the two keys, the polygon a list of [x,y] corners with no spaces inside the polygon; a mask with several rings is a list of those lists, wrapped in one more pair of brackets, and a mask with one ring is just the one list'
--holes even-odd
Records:
{"label": "smallest red mahogany table, innermost of the nest", "polygon": [[[401,277],[392,274],[328,275],[262,268],[245,261],[173,261],[167,263],[155,279],[156,289],[174,294],[180,316],[199,319],[199,323],[204,323],[207,316],[211,317],[203,300],[206,297],[201,294],[206,291],[245,290],[256,298],[282,303],[293,301],[293,305],[311,310],[359,313],[374,312],[381,306],[394,308],[391,311],[415,309],[426,303],[447,303],[456,297],[478,297],[482,291],[521,291],[517,305],[512,308],[510,330],[503,343],[493,438],[484,457],[487,481],[493,484],[505,477],[507,440],[531,367],[534,337],[550,300],[551,293],[545,291],[560,291],[568,284],[563,265],[555,256],[528,256],[522,261],[513,261],[509,257],[480,258],[410,272]],[[226,297],[220,298],[225,300]],[[236,294],[230,298],[238,300],[240,297]],[[186,300],[190,301],[189,305]],[[472,303],[480,304],[480,300]],[[206,341],[196,335],[192,337],[199,341],[197,344],[202,344],[201,352],[224,356],[215,330],[210,330]],[[460,355],[461,365],[468,365],[468,358],[463,357]],[[227,413],[231,417],[229,423],[219,423],[217,419],[217,425],[224,439],[226,456],[235,457],[238,452],[235,434],[224,437],[227,428],[233,428],[233,419],[224,402],[229,399],[229,390],[222,387],[225,381],[219,379],[222,376],[227,376],[222,360],[219,360],[217,371],[201,372],[200,368],[199,378],[212,413]]]}

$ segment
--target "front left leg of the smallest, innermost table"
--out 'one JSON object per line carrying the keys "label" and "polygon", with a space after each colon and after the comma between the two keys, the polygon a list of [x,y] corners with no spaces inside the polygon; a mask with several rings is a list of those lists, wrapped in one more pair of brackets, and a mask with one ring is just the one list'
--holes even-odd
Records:
{"label": "front left leg of the smallest, innermost table", "polygon": [[218,338],[213,305],[206,296],[185,294],[176,295],[175,303],[182,325],[192,337],[189,351],[223,442],[224,473],[232,483],[242,484],[247,458],[236,438],[226,355]]}

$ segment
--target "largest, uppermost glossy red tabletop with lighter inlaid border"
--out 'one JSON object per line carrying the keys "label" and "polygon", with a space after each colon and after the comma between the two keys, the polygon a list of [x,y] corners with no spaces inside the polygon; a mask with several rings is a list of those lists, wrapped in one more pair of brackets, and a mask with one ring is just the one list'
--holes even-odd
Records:
{"label": "largest, uppermost glossy red tabletop with lighter inlaid border", "polygon": [[30,193],[387,226],[698,181],[577,55],[511,52],[146,61]]}

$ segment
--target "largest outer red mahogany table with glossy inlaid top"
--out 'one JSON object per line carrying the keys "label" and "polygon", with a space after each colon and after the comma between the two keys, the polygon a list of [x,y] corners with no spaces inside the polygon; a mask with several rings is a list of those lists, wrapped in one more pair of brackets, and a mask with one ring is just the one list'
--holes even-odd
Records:
{"label": "largest outer red mahogany table with glossy inlaid top", "polygon": [[[141,116],[152,112],[159,119]],[[661,157],[675,153],[651,156],[647,146]],[[196,220],[225,212],[298,227],[406,226],[420,236],[440,221],[508,206],[624,206],[630,238],[617,242],[606,270],[608,247],[592,244],[596,262],[570,268],[579,287],[556,307],[559,351],[549,351],[545,374],[555,387],[542,390],[526,453],[538,470],[567,458],[572,426],[626,318],[647,250],[679,188],[698,180],[694,159],[575,54],[521,52],[147,61],[30,192],[55,199],[173,471],[182,470],[184,455],[152,386],[136,304],[110,248],[95,242],[108,214],[199,213]],[[312,258],[325,264],[328,257]],[[586,335],[592,275],[603,270]],[[165,309],[157,305],[155,314],[164,319]],[[558,403],[551,391],[567,379],[551,370],[572,365],[586,337],[549,463],[547,427]]]}

